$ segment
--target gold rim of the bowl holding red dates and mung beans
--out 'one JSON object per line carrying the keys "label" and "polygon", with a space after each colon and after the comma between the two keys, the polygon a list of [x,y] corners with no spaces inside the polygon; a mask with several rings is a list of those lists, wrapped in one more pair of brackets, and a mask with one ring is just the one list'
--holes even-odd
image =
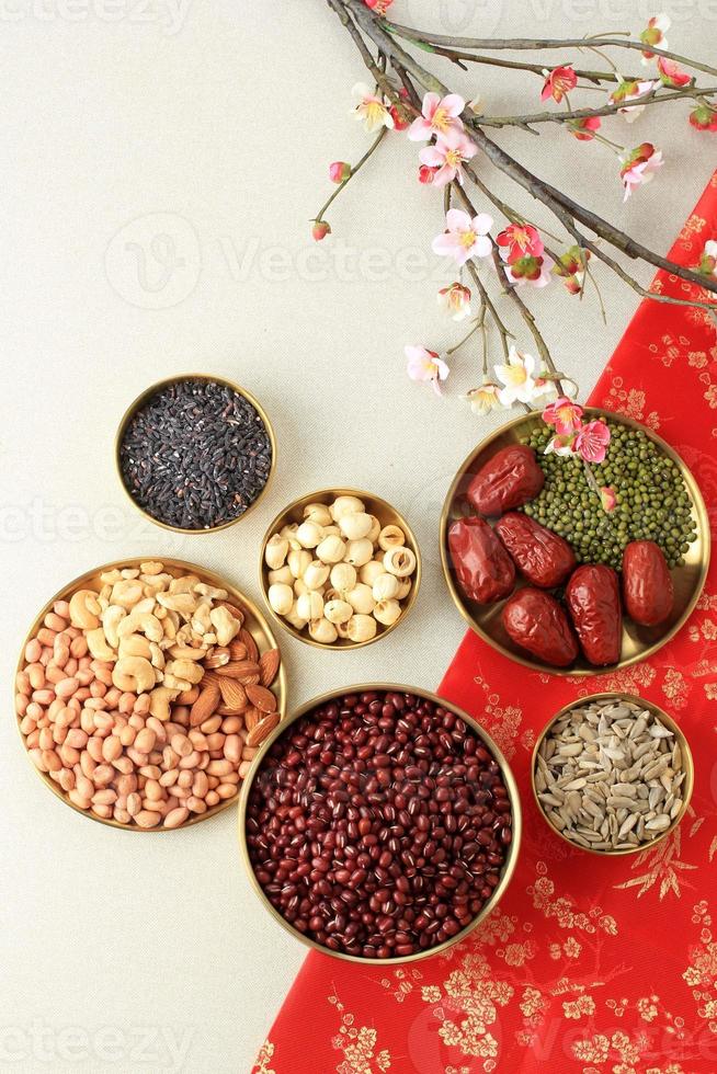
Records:
{"label": "gold rim of the bowl holding red dates and mung beans", "polygon": [[697,516],[697,525],[699,529],[699,539],[704,545],[704,555],[699,563],[699,576],[697,579],[697,584],[695,585],[694,592],[690,598],[690,602],[685,606],[683,614],[680,618],[670,627],[670,629],[651,645],[645,649],[642,652],[635,653],[633,656],[626,656],[624,660],[621,659],[616,664],[611,664],[606,667],[556,667],[553,664],[545,664],[531,656],[523,655],[513,649],[509,649],[508,645],[502,644],[502,642],[497,641],[492,638],[483,628],[476,621],[476,619],[470,615],[469,610],[466,608],[462,595],[456,585],[455,579],[453,576],[453,569],[451,564],[451,557],[447,549],[447,530],[448,524],[451,522],[451,510],[453,507],[454,500],[460,482],[464,480],[469,466],[474,462],[476,457],[485,452],[491,446],[497,439],[502,437],[505,432],[515,429],[519,425],[525,424],[527,421],[540,420],[540,412],[535,410],[531,413],[521,414],[514,418],[510,422],[500,425],[498,429],[493,430],[480,443],[470,452],[460,466],[458,467],[456,475],[451,482],[451,487],[446,493],[445,500],[443,502],[443,509],[441,511],[441,519],[439,524],[439,541],[440,541],[440,552],[441,552],[441,564],[443,567],[443,575],[448,587],[448,593],[454,605],[457,607],[458,612],[466,620],[474,633],[477,633],[491,649],[499,652],[501,655],[507,656],[516,664],[521,664],[523,667],[527,667],[533,672],[539,672],[547,675],[556,675],[564,678],[569,678],[573,676],[574,678],[588,678],[590,676],[600,676],[605,674],[614,674],[615,672],[622,671],[624,667],[629,667],[633,664],[641,663],[644,660],[649,660],[655,655],[663,645],[672,641],[675,635],[682,630],[685,626],[690,616],[694,612],[697,601],[702,596],[705,583],[707,581],[707,573],[709,570],[709,559],[712,551],[712,532],[709,526],[709,517],[707,514],[707,507],[705,505],[704,498],[702,495],[702,490],[687,464],[684,459],[675,452],[675,449],[662,439],[653,430],[648,429],[642,422],[635,421],[633,418],[626,418],[624,414],[616,413],[615,411],[607,410],[605,407],[583,407],[583,413],[589,416],[603,416],[608,420],[615,421],[621,425],[626,425],[628,429],[639,430],[645,433],[645,435],[656,443],[660,449],[676,464],[682,475],[682,478],[687,485],[687,491],[692,496],[694,504],[694,512]]}

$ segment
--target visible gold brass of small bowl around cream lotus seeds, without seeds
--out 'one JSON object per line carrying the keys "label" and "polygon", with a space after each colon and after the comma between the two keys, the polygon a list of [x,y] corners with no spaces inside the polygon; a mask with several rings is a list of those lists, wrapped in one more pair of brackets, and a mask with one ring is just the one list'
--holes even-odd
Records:
{"label": "visible gold brass of small bowl around cream lotus seeds, without seeds", "polygon": [[[406,534],[406,547],[410,548],[416,556],[416,570],[411,575],[411,592],[408,594],[405,601],[401,601],[401,615],[391,624],[390,627],[384,627],[378,624],[378,629],[373,638],[367,641],[351,641],[349,638],[337,638],[335,641],[328,642],[315,641],[314,638],[306,630],[297,630],[296,627],[287,622],[282,616],[277,615],[269,603],[269,568],[266,567],[266,561],[264,559],[264,553],[266,551],[266,545],[271,540],[274,534],[278,533],[284,526],[293,525],[294,523],[304,522],[304,509],[310,503],[331,503],[337,496],[357,496],[366,505],[366,511],[371,515],[375,515],[383,526],[394,525],[399,526]],[[288,507],[285,507],[266,530],[266,535],[262,541],[261,552],[259,558],[259,582],[261,585],[262,593],[264,594],[264,601],[266,602],[266,608],[269,614],[273,617],[274,621],[277,622],[284,630],[288,630],[289,633],[298,638],[299,641],[304,641],[307,645],[316,645],[317,649],[334,649],[340,651],[345,651],[346,649],[362,649],[364,645],[372,645],[375,641],[380,641],[386,635],[389,635],[391,630],[399,627],[407,618],[409,612],[416,603],[418,596],[419,586],[421,584],[421,551],[418,546],[418,541],[413,534],[413,530],[406,522],[402,515],[398,513],[396,507],[392,507],[390,503],[386,500],[382,500],[379,496],[373,495],[371,492],[363,492],[361,489],[319,489],[318,492],[310,492],[308,495],[300,496],[300,499],[295,500],[289,503]]]}

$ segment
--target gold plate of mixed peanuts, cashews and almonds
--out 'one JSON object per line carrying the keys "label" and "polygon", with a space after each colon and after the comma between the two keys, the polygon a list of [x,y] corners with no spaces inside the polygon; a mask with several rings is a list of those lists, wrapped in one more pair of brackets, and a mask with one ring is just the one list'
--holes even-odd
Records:
{"label": "gold plate of mixed peanuts, cashews and almonds", "polygon": [[286,678],[261,612],[224,579],[126,559],[45,605],[14,704],[55,795],[104,824],[159,832],[236,803],[286,711]]}

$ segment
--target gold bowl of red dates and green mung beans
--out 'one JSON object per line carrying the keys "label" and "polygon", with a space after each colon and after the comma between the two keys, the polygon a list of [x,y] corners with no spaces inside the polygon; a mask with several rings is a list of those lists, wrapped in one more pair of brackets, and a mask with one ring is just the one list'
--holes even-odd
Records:
{"label": "gold bowl of red dates and green mung beans", "polygon": [[441,517],[453,599],[494,649],[539,672],[595,675],[645,660],[685,624],[709,564],[699,488],[652,430],[603,410],[604,459],[547,452],[525,414],[464,461]]}

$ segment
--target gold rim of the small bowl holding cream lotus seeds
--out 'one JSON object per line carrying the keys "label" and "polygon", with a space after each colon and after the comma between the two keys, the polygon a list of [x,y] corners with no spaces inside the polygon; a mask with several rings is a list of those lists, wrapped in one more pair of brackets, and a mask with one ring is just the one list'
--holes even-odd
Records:
{"label": "gold rim of the small bowl holding cream lotus seeds", "polygon": [[[396,525],[400,526],[400,528],[406,534],[407,544],[410,547],[413,555],[416,556],[416,570],[411,575],[411,583],[412,583],[411,592],[409,593],[406,603],[402,606],[400,616],[398,617],[396,622],[392,622],[389,627],[384,627],[382,630],[377,630],[374,637],[368,638],[366,641],[350,641],[343,638],[340,638],[337,641],[331,641],[331,642],[317,641],[315,638],[311,638],[310,635],[305,635],[303,630],[298,630],[296,627],[292,626],[291,622],[287,622],[282,616],[280,616],[276,612],[274,612],[271,604],[269,603],[269,582],[266,579],[269,569],[266,568],[264,561],[264,555],[269,541],[271,540],[273,535],[277,533],[278,529],[281,529],[282,525],[285,525],[286,515],[289,515],[294,511],[298,511],[299,507],[301,507],[305,503],[312,503],[315,498],[317,502],[320,502],[321,498],[328,498],[328,496],[332,496],[334,500],[337,499],[337,496],[357,496],[360,500],[368,500],[368,501],[373,501],[375,504],[378,504],[382,510],[386,511],[386,513],[392,514],[395,516]],[[328,506],[328,504],[326,504],[326,506]],[[387,523],[387,525],[389,524]],[[421,586],[422,574],[423,574],[423,564],[422,564],[421,549],[416,538],[416,534],[411,529],[409,523],[407,522],[405,516],[400,513],[400,511],[397,511],[396,507],[394,507],[394,505],[390,504],[387,500],[384,500],[382,496],[375,495],[373,492],[367,492],[365,489],[350,489],[350,488],[318,489],[316,492],[308,492],[306,493],[306,495],[297,496],[286,507],[284,507],[283,511],[280,511],[276,517],[272,521],[271,525],[266,529],[266,533],[264,534],[264,538],[261,542],[261,547],[259,551],[259,585],[261,589],[262,596],[264,598],[266,610],[269,612],[269,615],[272,617],[274,622],[277,622],[280,627],[282,627],[284,630],[291,633],[298,641],[303,641],[304,644],[306,645],[314,645],[316,649],[325,649],[329,651],[332,650],[334,652],[349,652],[353,649],[363,649],[364,645],[373,645],[374,642],[380,641],[382,638],[385,638],[397,627],[400,627],[406,621],[409,613],[412,610],[412,608],[416,605],[419,589]],[[382,624],[378,624],[378,626],[380,627]]]}

